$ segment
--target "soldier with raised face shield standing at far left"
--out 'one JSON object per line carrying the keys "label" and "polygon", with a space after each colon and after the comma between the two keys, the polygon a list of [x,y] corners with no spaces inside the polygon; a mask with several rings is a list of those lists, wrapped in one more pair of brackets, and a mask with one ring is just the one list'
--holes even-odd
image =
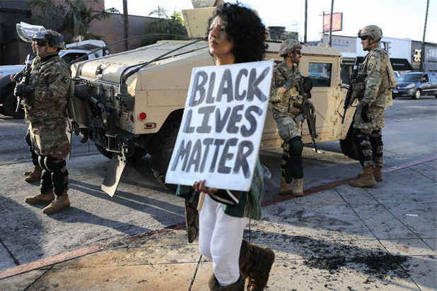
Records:
{"label": "soldier with raised face shield standing at far left", "polygon": [[25,203],[49,204],[42,212],[58,213],[70,206],[65,158],[71,150],[66,136],[66,104],[73,93],[71,71],[59,51],[65,39],[58,32],[43,30],[33,37],[37,57],[31,66],[28,85],[17,84],[15,95],[23,97],[25,121],[30,123],[30,140],[42,167],[40,194]]}

